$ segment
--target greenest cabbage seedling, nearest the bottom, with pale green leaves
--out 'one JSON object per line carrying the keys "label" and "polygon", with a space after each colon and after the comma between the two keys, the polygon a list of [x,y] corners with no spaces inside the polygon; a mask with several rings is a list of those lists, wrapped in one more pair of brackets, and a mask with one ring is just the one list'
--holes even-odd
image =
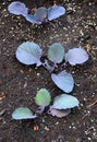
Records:
{"label": "greenest cabbage seedling, nearest the bottom, with pale green leaves", "polygon": [[[35,119],[38,115],[41,115],[45,107],[50,105],[51,95],[46,88],[41,88],[37,92],[35,103],[39,106],[39,110],[36,111],[37,115],[26,107],[19,107],[12,113],[12,118],[15,120],[22,119]],[[62,118],[71,113],[71,108],[78,106],[80,102],[76,97],[68,94],[61,94],[54,97],[53,105],[48,109],[48,114]]]}

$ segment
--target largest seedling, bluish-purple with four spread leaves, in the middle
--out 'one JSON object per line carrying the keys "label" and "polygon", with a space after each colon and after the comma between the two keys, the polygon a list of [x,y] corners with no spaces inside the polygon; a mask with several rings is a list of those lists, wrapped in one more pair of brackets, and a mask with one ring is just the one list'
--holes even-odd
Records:
{"label": "largest seedling, bluish-purple with four spread leaves, in the middle", "polygon": [[[20,62],[32,66],[36,64],[37,67],[45,67],[50,73],[51,79],[56,83],[56,85],[62,91],[70,93],[74,87],[74,80],[71,73],[66,71],[61,71],[58,74],[52,73],[58,64],[63,62],[66,66],[70,64],[81,64],[88,60],[88,54],[83,48],[73,48],[68,52],[64,51],[64,47],[59,44],[52,44],[48,49],[48,60],[45,59],[41,61],[43,49],[39,45],[33,42],[25,42],[21,44],[16,49],[16,58]],[[71,62],[72,61],[72,62]],[[64,67],[65,67],[64,66]]]}

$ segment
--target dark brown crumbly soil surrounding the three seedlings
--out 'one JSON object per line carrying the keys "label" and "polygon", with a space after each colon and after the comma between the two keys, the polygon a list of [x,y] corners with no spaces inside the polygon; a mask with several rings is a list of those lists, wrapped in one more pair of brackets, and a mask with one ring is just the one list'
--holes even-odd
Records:
{"label": "dark brown crumbly soil surrounding the three seedlings", "polygon": [[[39,4],[49,7],[52,1],[21,0],[29,10]],[[23,16],[8,12],[11,0],[0,0],[0,142],[96,142],[97,141],[97,2],[94,0],[61,0],[66,13],[40,26],[26,22]],[[35,120],[12,120],[20,106],[35,111],[35,95],[46,87],[52,98],[63,92],[51,81],[43,67],[24,66],[15,58],[20,44],[31,40],[40,45],[47,56],[48,47],[61,43],[65,51],[83,47],[89,60],[76,67],[66,67],[74,76],[71,93],[80,100],[65,118],[44,113]],[[57,70],[65,70],[60,68]]]}

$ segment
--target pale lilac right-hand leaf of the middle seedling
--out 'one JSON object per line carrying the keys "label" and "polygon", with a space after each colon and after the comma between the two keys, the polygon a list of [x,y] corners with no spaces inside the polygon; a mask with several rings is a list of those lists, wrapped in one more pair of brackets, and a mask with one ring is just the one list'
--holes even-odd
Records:
{"label": "pale lilac right-hand leaf of the middle seedling", "polygon": [[70,64],[81,64],[88,60],[88,54],[83,48],[73,48],[65,54],[65,61]]}

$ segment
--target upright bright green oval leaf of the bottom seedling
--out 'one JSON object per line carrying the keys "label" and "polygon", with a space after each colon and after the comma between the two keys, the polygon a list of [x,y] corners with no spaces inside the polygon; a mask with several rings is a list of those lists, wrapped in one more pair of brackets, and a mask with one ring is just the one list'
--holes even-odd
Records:
{"label": "upright bright green oval leaf of the bottom seedling", "polygon": [[50,93],[46,88],[41,88],[36,94],[36,104],[38,106],[48,106],[50,104]]}

